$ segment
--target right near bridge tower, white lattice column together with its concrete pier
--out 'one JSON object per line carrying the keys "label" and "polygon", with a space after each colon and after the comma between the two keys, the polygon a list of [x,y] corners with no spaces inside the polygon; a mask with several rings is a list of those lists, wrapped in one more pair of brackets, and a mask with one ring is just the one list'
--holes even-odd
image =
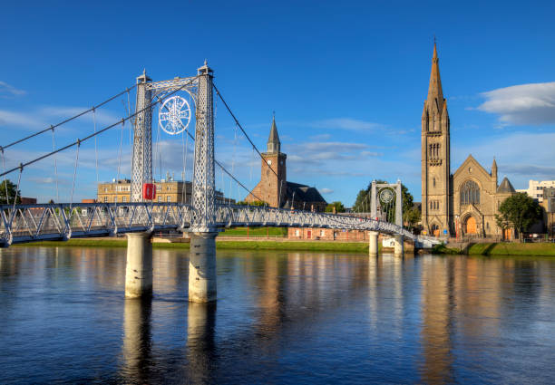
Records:
{"label": "right near bridge tower, white lattice column together with its concrete pier", "polygon": [[208,63],[198,70],[190,226],[189,301],[216,300],[216,236],[214,209],[214,108],[213,71]]}

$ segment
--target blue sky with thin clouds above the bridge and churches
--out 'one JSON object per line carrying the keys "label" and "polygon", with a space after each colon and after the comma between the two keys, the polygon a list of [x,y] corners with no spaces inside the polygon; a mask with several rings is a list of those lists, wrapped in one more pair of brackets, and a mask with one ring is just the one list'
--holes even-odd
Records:
{"label": "blue sky with thin clouds above the bridge and churches", "polygon": [[[555,179],[552,2],[15,2],[0,35],[2,145],[122,91],[143,68],[155,81],[196,73],[204,59],[232,110],[265,149],[276,111],[287,179],[327,201],[355,201],[373,178],[401,178],[420,199],[420,124],[437,36],[451,118],[452,172],[469,153],[515,188]],[[134,95],[131,95],[133,104]],[[98,111],[121,119],[127,98]],[[259,159],[217,104],[216,158],[252,188]],[[62,145],[93,117],[59,130]],[[129,125],[83,144],[74,199],[98,179],[130,175]],[[183,140],[153,126],[155,175],[182,172]],[[122,151],[120,156],[120,140]],[[9,167],[52,149],[46,134],[5,151]],[[190,150],[188,150],[190,154]],[[60,200],[71,197],[75,151],[57,159]],[[119,169],[119,172],[118,172]],[[11,177],[17,179],[17,174]],[[190,178],[190,160],[186,178]],[[226,195],[242,198],[217,175]],[[26,197],[56,198],[54,159],[24,170]]]}

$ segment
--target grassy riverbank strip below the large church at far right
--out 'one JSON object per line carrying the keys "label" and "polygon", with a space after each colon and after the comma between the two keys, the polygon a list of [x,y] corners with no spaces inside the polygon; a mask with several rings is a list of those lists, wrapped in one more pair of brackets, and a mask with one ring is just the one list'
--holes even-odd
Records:
{"label": "grassy riverbank strip below the large church at far right", "polygon": [[465,255],[542,255],[555,256],[555,244],[518,244],[518,243],[487,243],[469,245],[465,250],[437,245],[433,254],[465,254]]}

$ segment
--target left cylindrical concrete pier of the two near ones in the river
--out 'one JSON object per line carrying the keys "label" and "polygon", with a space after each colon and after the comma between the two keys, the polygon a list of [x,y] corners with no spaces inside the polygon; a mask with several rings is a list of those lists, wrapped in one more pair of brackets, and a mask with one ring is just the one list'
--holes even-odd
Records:
{"label": "left cylindrical concrete pier of the two near ones in the river", "polygon": [[152,295],[151,233],[127,235],[127,264],[125,266],[125,298]]}

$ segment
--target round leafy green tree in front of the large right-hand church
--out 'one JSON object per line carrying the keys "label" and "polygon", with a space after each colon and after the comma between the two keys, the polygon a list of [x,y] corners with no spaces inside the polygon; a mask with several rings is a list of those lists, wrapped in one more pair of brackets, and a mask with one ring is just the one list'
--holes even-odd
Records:
{"label": "round leafy green tree in front of the large right-hand church", "polygon": [[526,193],[517,193],[505,199],[495,215],[497,226],[502,229],[514,228],[522,241],[522,232],[527,231],[541,218],[541,207]]}

